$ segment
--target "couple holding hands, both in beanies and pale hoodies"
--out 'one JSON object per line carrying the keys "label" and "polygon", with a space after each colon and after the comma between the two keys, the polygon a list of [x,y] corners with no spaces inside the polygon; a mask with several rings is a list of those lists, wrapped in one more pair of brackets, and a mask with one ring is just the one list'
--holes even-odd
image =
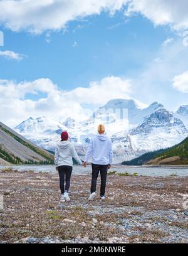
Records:
{"label": "couple holding hands, both in beanies and pale hoodies", "polygon": [[[90,146],[86,152],[85,161],[82,163],[73,144],[68,141],[68,132],[61,133],[61,141],[55,148],[55,165],[60,176],[61,200],[70,201],[68,190],[70,188],[71,173],[73,170],[73,158],[86,167],[89,157],[91,156],[92,178],[91,178],[91,195],[88,200],[93,200],[96,196],[97,178],[100,173],[101,186],[100,198],[105,200],[105,187],[107,183],[107,171],[112,164],[113,151],[112,141],[105,134],[104,125],[98,125],[98,134],[93,136]],[[64,185],[65,183],[65,185]]]}

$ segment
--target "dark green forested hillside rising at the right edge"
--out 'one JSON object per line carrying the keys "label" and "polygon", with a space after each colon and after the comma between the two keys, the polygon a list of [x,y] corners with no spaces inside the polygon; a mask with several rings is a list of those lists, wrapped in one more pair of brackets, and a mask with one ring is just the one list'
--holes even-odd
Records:
{"label": "dark green forested hillside rising at the right edge", "polygon": [[130,166],[142,164],[188,164],[188,137],[173,147],[147,152],[131,161],[124,161],[122,164]]}

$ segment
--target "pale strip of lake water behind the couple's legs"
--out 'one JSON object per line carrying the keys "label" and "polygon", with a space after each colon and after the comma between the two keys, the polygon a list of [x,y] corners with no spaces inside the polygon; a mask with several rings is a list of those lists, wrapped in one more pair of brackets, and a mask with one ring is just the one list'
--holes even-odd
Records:
{"label": "pale strip of lake water behind the couple's legs", "polygon": [[[0,169],[8,166],[0,165]],[[55,166],[53,165],[18,165],[11,166],[13,169],[19,171],[34,171],[56,173]],[[137,173],[143,176],[169,176],[175,174],[177,176],[188,176],[188,166],[113,166],[110,171],[117,171],[117,173]],[[91,174],[91,166],[73,166],[73,173],[75,174]]]}

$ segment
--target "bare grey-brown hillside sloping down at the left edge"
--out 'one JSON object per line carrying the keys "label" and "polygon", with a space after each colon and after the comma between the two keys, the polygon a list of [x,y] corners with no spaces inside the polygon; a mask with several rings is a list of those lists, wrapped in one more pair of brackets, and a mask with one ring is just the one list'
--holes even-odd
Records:
{"label": "bare grey-brown hillside sloping down at the left edge", "polygon": [[53,164],[53,158],[0,122],[0,164]]}

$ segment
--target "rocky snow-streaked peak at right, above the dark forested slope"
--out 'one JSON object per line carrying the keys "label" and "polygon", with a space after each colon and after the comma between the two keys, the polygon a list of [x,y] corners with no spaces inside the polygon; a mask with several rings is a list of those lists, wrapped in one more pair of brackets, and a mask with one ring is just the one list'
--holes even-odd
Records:
{"label": "rocky snow-streaked peak at right, above the dark forested slope", "polygon": [[184,123],[166,109],[146,117],[141,125],[130,131],[132,147],[141,153],[175,145],[188,136]]}

